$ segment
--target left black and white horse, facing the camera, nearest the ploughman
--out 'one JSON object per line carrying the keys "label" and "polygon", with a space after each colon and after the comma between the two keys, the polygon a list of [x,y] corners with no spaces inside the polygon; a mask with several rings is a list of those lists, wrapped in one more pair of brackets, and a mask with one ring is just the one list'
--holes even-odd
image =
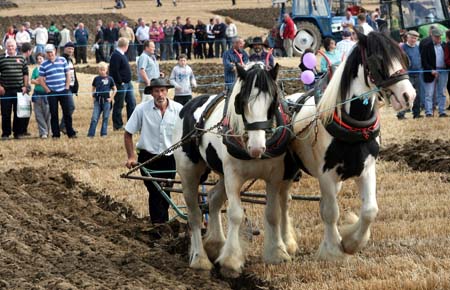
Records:
{"label": "left black and white horse, facing the camera, nearest the ploughman", "polygon": [[[261,63],[250,63],[245,69],[238,65],[236,69],[238,77],[229,100],[217,101],[217,96],[212,95],[199,96],[190,101],[180,112],[174,139],[188,136],[194,127],[208,129],[218,123],[229,127],[227,133],[231,136],[207,132],[197,142],[184,144],[174,153],[192,231],[190,266],[209,270],[211,261],[217,262],[221,265],[222,273],[227,276],[238,275],[244,265],[245,257],[239,239],[239,227],[244,214],[240,190],[249,179],[260,178],[267,185],[265,261],[280,263],[289,260],[289,254],[297,250],[294,234],[280,231],[278,198],[280,190],[286,190],[282,187],[289,186],[289,181],[283,182],[283,159],[289,137],[285,148],[278,154],[273,151],[277,148],[273,149],[273,144],[270,145],[266,140],[266,130],[272,128],[272,119],[277,118],[280,112],[276,84],[278,65],[270,71]],[[280,132],[281,135],[288,133],[285,130]],[[268,155],[272,155],[272,158],[265,158]],[[220,179],[209,194],[208,229],[202,242],[198,186],[207,167],[214,170]],[[225,238],[220,210],[227,198],[228,233]]]}

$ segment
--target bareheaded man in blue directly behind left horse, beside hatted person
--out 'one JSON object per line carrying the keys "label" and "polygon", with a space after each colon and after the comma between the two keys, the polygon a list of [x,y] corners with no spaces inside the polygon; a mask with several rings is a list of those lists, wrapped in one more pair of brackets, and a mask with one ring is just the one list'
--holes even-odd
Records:
{"label": "bareheaded man in blue directly behind left horse, beside hatted person", "polygon": [[236,64],[248,63],[248,54],[244,50],[244,40],[240,37],[233,41],[233,46],[223,53],[223,69],[225,77],[225,90],[228,92],[233,88],[236,80]]}

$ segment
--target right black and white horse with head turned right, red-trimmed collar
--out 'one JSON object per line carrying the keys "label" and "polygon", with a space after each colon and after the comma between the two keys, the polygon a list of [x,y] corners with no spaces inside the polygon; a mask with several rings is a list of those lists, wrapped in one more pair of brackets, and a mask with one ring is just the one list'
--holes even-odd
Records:
{"label": "right black and white horse with head turned right, red-trimmed collar", "polygon": [[[364,247],[378,212],[376,91],[391,95],[392,106],[397,111],[410,108],[416,95],[397,43],[375,32],[367,37],[358,35],[358,39],[319,103],[316,105],[314,98],[309,98],[293,116],[296,138],[290,147],[303,170],[318,178],[320,183],[320,214],[325,229],[318,257],[327,260],[344,258]],[[300,98],[301,94],[287,97],[293,102]],[[350,224],[339,230],[336,195],[342,182],[349,178],[355,179],[362,204],[359,217],[353,215]],[[288,223],[287,206],[286,202],[281,209],[284,223]]]}

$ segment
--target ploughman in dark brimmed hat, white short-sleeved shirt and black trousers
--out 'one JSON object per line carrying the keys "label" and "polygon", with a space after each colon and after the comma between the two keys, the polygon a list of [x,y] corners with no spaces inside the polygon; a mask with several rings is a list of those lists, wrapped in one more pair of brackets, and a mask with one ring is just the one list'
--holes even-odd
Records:
{"label": "ploughman in dark brimmed hat, white short-sleeved shirt and black trousers", "polygon": [[[169,100],[168,89],[173,86],[162,78],[153,79],[148,89],[153,99],[139,104],[125,126],[124,143],[127,152],[126,166],[132,168],[139,163],[144,163],[154,156],[161,154],[172,146],[172,135],[175,122],[183,106]],[[133,134],[140,132],[137,142],[139,151],[136,158]],[[164,155],[141,168],[141,174],[147,176],[149,171],[153,177],[175,178],[175,158],[173,153]],[[144,181],[149,198],[150,220],[153,224],[165,223],[169,220],[169,204],[155,187],[153,182]],[[166,192],[170,196],[170,192]]]}

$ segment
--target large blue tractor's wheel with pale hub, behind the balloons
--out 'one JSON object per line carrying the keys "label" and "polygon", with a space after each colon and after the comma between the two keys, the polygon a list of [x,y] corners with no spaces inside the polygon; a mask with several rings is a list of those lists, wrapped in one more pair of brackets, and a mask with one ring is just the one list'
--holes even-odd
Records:
{"label": "large blue tractor's wheel with pale hub, behind the balloons", "polygon": [[307,48],[316,52],[322,45],[322,35],[319,28],[311,22],[297,22],[297,34],[295,35],[293,46],[294,55],[300,56]]}

